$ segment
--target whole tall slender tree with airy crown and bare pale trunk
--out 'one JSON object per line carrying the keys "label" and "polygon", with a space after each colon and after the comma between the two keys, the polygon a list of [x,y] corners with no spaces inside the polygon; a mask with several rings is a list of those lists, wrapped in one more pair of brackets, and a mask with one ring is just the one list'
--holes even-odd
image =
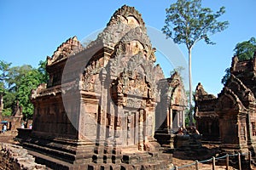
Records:
{"label": "whole tall slender tree with airy crown and bare pale trunk", "polygon": [[216,13],[211,8],[202,8],[201,0],[177,0],[177,3],[166,8],[166,25],[162,31],[174,42],[185,44],[189,54],[189,124],[193,121],[191,52],[195,43],[201,40],[215,44],[209,37],[229,26],[228,21],[218,21],[224,13],[224,7]]}

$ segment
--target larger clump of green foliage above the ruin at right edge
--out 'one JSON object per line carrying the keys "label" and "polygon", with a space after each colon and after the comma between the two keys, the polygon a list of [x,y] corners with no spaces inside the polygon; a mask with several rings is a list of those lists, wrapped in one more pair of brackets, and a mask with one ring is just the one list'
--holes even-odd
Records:
{"label": "larger clump of green foliage above the ruin at right edge", "polygon": [[256,39],[251,37],[248,41],[240,42],[236,44],[234,52],[240,61],[252,59],[253,54],[256,51]]}

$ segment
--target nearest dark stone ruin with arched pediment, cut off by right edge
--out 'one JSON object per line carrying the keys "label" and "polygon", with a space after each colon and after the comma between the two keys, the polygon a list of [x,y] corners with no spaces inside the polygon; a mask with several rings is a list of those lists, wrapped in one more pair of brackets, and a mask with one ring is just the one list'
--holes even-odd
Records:
{"label": "nearest dark stone ruin with arched pediment, cut off by right edge", "polygon": [[256,53],[253,59],[232,59],[230,78],[218,94],[221,148],[226,151],[252,150],[256,143]]}

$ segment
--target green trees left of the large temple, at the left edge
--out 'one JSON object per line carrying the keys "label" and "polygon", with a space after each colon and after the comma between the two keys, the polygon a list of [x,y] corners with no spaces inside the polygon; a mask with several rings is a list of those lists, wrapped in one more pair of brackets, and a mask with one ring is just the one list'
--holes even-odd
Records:
{"label": "green trees left of the large temple, at the left edge", "polygon": [[12,63],[0,60],[0,94],[3,95],[3,116],[11,116],[16,102],[19,101],[24,120],[32,118],[34,108],[30,101],[31,90],[48,81],[46,64],[46,60],[41,60],[38,68],[33,68],[32,65],[12,66]]}

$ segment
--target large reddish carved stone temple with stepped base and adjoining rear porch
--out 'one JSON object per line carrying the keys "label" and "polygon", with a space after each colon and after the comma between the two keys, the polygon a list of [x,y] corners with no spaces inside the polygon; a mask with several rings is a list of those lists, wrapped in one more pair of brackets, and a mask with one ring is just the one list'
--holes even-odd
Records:
{"label": "large reddish carved stone temple with stepped base and adjoining rear porch", "polygon": [[20,144],[52,168],[167,169],[172,155],[154,132],[182,126],[186,102],[177,73],[165,79],[154,52],[128,6],[86,48],[77,37],[63,42],[48,57],[49,82],[32,91],[33,129]]}

